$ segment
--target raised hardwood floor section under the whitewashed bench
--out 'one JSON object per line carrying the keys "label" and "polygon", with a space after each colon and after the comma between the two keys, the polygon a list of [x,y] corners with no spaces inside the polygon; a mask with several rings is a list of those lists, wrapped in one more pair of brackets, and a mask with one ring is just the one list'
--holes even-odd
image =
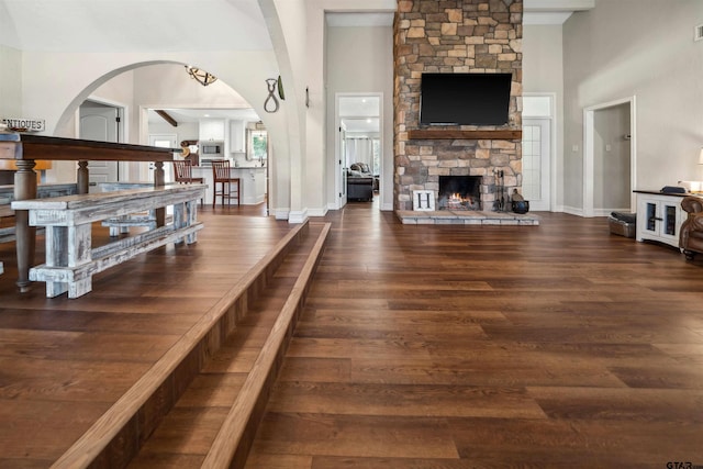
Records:
{"label": "raised hardwood floor section under the whitewashed bench", "polygon": [[18,293],[14,243],[0,244],[0,467],[51,466],[292,228],[227,212],[200,211],[198,243],[101,272],[75,300]]}

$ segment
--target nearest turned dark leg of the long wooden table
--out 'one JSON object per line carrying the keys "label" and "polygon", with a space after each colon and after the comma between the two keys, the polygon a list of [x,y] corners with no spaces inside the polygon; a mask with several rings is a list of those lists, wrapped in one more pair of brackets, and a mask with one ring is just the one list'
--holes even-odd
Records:
{"label": "nearest turned dark leg of the long wooden table", "polygon": [[[33,159],[15,160],[18,170],[14,174],[14,200],[36,199],[36,172]],[[36,247],[36,227],[30,226],[30,212],[16,210],[14,226],[18,253],[18,281],[21,292],[30,291],[30,268],[34,265]]]}

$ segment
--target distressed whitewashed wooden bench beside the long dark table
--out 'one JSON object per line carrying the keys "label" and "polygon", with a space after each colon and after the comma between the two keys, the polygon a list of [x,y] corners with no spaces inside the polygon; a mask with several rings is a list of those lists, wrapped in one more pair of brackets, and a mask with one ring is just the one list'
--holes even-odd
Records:
{"label": "distressed whitewashed wooden bench beside the long dark table", "polygon": [[[46,263],[30,269],[30,279],[46,282],[46,297],[92,290],[92,276],[168,243],[197,241],[197,206],[205,185],[170,185],[12,202],[30,213],[31,226],[45,226]],[[174,222],[93,247],[92,224],[137,212],[174,208]]]}

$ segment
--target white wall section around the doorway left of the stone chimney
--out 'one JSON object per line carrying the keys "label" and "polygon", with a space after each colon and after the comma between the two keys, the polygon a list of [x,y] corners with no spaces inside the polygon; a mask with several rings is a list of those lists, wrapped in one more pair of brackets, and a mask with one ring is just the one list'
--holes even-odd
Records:
{"label": "white wall section around the doorway left of the stone chimney", "polygon": [[[391,26],[327,29],[327,180],[335,178],[336,93],[382,93],[383,179],[381,208],[393,206],[393,30]],[[335,187],[327,189],[334,202]]]}

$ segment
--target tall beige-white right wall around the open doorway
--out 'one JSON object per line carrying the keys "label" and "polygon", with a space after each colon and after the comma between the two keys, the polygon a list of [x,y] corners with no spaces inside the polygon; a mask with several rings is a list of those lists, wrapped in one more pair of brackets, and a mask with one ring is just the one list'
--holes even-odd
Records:
{"label": "tall beige-white right wall around the open doorway", "polygon": [[636,97],[635,189],[698,180],[703,144],[701,0],[599,0],[563,26],[565,204],[582,208],[583,108]]}

